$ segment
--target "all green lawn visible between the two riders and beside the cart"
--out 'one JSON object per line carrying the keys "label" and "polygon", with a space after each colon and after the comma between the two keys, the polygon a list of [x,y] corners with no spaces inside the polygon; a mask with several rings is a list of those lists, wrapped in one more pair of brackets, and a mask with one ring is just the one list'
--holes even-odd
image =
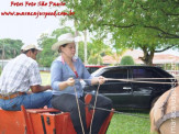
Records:
{"label": "all green lawn visible between the two riders and beside the cart", "polygon": [[[43,85],[51,83],[49,72],[41,72]],[[130,112],[139,116],[149,118],[147,112]],[[107,134],[149,134],[149,119],[115,113]]]}

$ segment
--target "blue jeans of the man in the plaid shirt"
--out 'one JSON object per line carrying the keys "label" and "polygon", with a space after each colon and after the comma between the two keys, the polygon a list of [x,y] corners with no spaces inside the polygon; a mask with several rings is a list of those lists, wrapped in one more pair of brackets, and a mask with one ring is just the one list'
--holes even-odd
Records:
{"label": "blue jeans of the man in the plaid shirt", "polygon": [[20,111],[21,105],[24,105],[25,109],[38,109],[45,105],[52,108],[52,91],[43,91],[38,93],[22,94],[9,100],[0,99],[0,108],[8,111]]}

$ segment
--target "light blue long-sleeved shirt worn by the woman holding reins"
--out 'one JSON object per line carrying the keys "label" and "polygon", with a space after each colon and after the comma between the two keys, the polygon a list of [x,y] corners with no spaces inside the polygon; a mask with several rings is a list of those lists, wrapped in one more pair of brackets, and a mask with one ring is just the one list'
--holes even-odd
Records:
{"label": "light blue long-sleeved shirt worn by the woman holding reins", "polygon": [[[91,85],[92,76],[88,72],[86,67],[83,66],[82,62],[74,57],[74,65],[78,74],[78,78],[75,72],[70,69],[70,67],[64,62],[63,57],[57,57],[52,66],[51,66],[51,81],[53,88],[53,94],[59,96],[63,93],[70,93],[75,94],[75,88],[77,90],[78,98],[83,94],[83,90],[80,83],[80,79],[88,79],[85,80],[88,85]],[[59,89],[59,83],[66,81],[68,78],[74,78],[76,80],[75,86],[67,87],[64,90]]]}

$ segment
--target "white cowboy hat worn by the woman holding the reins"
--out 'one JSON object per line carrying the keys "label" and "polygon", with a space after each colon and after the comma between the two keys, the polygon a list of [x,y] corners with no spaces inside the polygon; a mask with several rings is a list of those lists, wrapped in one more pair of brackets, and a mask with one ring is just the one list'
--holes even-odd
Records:
{"label": "white cowboy hat worn by the woman holding the reins", "polygon": [[75,35],[71,33],[63,34],[58,37],[58,42],[53,44],[52,49],[58,51],[59,46],[68,44],[68,43],[75,43]]}

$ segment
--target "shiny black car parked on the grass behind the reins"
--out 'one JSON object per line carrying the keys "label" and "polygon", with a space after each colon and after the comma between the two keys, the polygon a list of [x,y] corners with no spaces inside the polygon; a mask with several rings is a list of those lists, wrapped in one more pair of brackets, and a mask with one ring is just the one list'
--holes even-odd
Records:
{"label": "shiny black car parked on the grass behind the reins", "polygon": [[[114,107],[149,109],[165,91],[176,87],[177,79],[158,67],[103,67],[92,74],[112,78],[100,86],[99,93],[112,99]],[[96,92],[98,86],[86,86],[85,92]]]}

